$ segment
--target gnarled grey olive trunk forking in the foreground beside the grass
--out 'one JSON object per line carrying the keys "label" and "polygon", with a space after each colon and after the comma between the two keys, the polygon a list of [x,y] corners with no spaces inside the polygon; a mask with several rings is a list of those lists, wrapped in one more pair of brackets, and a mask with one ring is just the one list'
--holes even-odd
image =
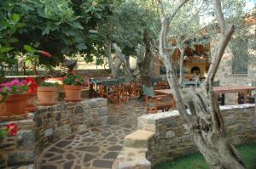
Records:
{"label": "gnarled grey olive trunk forking in the foreground beside the grass", "polygon": [[[161,0],[160,14],[162,29],[160,31],[160,58],[166,65],[166,76],[170,87],[173,89],[173,97],[180,115],[186,121],[185,128],[192,134],[195,144],[205,157],[207,163],[214,169],[244,169],[244,163],[238,155],[236,148],[230,144],[228,134],[224,127],[223,117],[220,114],[218,102],[213,93],[213,79],[218,70],[218,65],[223,57],[230,37],[234,32],[234,25],[224,20],[220,0],[213,0],[215,15],[220,27],[218,46],[213,54],[213,59],[208,71],[205,88],[201,91],[182,90],[178,85],[177,76],[171,62],[170,48],[166,46],[166,35],[171,20],[177,11],[189,0],[181,0],[177,8],[169,14],[164,14]],[[190,113],[188,113],[187,108]]]}

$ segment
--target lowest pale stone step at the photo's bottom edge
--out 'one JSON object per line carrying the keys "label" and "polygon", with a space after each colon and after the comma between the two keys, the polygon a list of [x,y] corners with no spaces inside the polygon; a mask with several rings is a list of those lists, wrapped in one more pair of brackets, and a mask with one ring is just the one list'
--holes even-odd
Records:
{"label": "lowest pale stone step at the photo's bottom edge", "polygon": [[148,149],[125,147],[113,162],[112,169],[150,169],[151,163],[146,159],[147,151]]}

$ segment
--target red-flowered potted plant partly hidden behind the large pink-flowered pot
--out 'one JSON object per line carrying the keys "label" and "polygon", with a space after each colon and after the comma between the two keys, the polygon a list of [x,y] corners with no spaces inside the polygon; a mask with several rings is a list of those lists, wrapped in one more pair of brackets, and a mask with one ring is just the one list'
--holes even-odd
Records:
{"label": "red-flowered potted plant partly hidden behind the large pink-flowered pot", "polygon": [[30,77],[25,79],[26,85],[28,86],[28,99],[26,102],[26,110],[29,112],[34,112],[37,110],[36,98],[37,98],[37,82]]}

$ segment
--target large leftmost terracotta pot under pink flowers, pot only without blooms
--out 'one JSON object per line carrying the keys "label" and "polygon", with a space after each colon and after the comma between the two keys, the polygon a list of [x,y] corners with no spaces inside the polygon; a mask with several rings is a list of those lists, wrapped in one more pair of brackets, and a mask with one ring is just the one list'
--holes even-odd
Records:
{"label": "large leftmost terracotta pot under pink flowers, pot only without blooms", "polygon": [[0,111],[0,115],[5,117],[24,115],[26,113],[27,97],[28,93],[8,95],[7,99],[3,102],[3,105],[0,106],[3,108],[3,110]]}

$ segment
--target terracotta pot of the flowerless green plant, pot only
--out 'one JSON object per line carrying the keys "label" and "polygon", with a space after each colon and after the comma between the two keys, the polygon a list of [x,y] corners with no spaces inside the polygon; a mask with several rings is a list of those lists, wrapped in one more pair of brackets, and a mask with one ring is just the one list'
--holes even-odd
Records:
{"label": "terracotta pot of the flowerless green plant, pot only", "polygon": [[38,104],[54,105],[56,104],[57,87],[38,87]]}

